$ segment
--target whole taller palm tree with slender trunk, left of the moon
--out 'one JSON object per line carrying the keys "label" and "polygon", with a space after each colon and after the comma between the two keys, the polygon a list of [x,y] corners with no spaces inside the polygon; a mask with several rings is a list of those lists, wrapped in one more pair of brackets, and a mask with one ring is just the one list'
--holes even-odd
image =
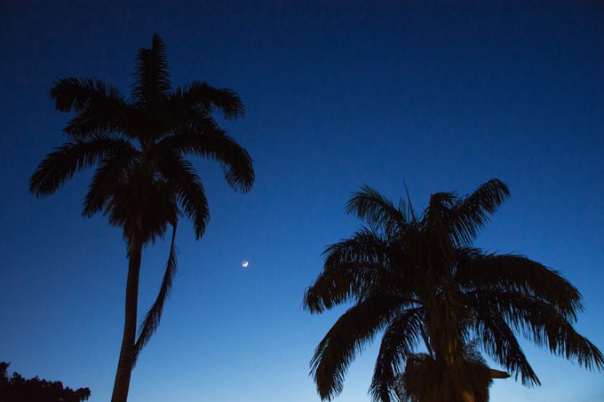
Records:
{"label": "whole taller palm tree with slender trunk, left of the moon", "polygon": [[[83,216],[104,213],[123,229],[129,264],[125,320],[113,402],[125,402],[132,367],[162,316],[176,273],[174,240],[184,215],[199,239],[210,218],[202,180],[188,154],[220,162],[229,185],[247,192],[254,181],[250,155],[212,117],[242,116],[239,96],[195,81],[172,89],[165,45],[153,36],[137,55],[131,99],[99,80],[64,78],[51,98],[60,112],[75,112],[64,129],[68,141],[48,154],[30,180],[37,197],[55,193],[76,171],[96,166]],[[162,286],[137,338],[137,300],[142,249],[171,228],[171,250]]]}

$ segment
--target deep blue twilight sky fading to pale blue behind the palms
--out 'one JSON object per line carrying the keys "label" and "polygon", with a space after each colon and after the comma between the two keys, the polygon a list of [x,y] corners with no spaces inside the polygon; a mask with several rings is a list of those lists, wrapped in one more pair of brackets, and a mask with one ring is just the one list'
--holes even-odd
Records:
{"label": "deep blue twilight sky fading to pale blue behind the palms", "polygon": [[[301,310],[322,250],[360,223],[359,185],[512,197],[477,245],[529,256],[584,296],[576,328],[604,348],[604,4],[601,1],[0,2],[0,360],[26,377],[91,388],[107,401],[123,329],[125,248],[102,216],[80,216],[90,172],[36,200],[28,178],[59,146],[60,77],[128,93],[136,51],[163,36],[173,84],[237,91],[225,127],[255,161],[234,193],[195,159],[211,222],[179,225],[179,275],[142,352],[131,402],[317,401],[308,362],[346,306]],[[457,4],[457,5],[453,5]],[[145,250],[139,305],[155,299],[168,245]],[[241,261],[250,261],[242,269]],[[496,381],[491,401],[604,400],[604,376],[525,351],[537,389]],[[377,345],[337,399],[367,402]]]}

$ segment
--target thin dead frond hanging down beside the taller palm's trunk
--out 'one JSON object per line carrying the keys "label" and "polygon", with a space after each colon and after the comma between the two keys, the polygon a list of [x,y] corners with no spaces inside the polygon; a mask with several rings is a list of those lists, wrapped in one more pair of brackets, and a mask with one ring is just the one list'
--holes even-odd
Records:
{"label": "thin dead frond hanging down beside the taller palm's trunk", "polygon": [[151,335],[155,333],[155,330],[159,326],[160,320],[162,319],[163,306],[168,300],[170,296],[170,291],[172,288],[172,282],[174,277],[176,276],[176,271],[178,268],[177,264],[177,249],[174,244],[174,240],[176,239],[176,222],[172,224],[172,240],[170,246],[170,256],[168,257],[168,263],[166,264],[166,271],[163,274],[162,286],[159,289],[159,293],[157,298],[155,299],[155,303],[151,306],[151,308],[145,314],[145,318],[142,321],[142,324],[139,327],[139,336],[134,345],[134,361],[133,365],[136,364],[136,360],[139,359],[140,351],[145,347],[145,345],[151,339]]}

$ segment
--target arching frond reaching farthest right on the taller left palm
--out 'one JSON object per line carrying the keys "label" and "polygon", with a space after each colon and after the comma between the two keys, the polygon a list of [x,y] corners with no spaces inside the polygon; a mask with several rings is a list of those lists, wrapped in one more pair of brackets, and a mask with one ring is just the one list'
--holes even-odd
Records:
{"label": "arching frond reaching farthest right on the taller left palm", "polygon": [[179,154],[195,154],[219,162],[225,171],[227,183],[234,190],[246,193],[254,184],[254,168],[250,154],[218,127],[200,127],[189,124],[179,134],[163,138],[159,152],[171,149]]}

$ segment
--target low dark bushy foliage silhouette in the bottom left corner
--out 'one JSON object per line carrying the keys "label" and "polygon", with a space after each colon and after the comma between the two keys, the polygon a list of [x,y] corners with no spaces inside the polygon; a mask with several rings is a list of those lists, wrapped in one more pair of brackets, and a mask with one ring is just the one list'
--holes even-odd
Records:
{"label": "low dark bushy foliage silhouette in the bottom left corner", "polygon": [[19,373],[8,376],[10,363],[0,363],[0,402],[82,402],[91,396],[88,388],[72,390],[60,381],[25,379]]}

